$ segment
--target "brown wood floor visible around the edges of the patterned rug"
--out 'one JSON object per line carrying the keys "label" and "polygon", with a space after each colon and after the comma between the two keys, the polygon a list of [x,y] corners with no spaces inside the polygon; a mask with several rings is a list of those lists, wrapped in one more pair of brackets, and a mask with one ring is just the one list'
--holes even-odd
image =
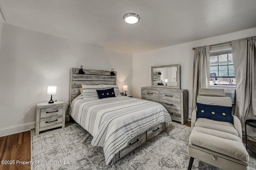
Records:
{"label": "brown wood floor visible around the edges of the patterned rug", "polygon": [[[191,122],[186,122],[185,125],[191,127]],[[256,146],[256,142],[248,142],[248,144],[253,144]],[[16,164],[16,160],[30,161],[30,148],[30,131],[0,137],[0,160],[15,161],[14,165],[0,164],[0,170],[31,170],[30,164]]]}

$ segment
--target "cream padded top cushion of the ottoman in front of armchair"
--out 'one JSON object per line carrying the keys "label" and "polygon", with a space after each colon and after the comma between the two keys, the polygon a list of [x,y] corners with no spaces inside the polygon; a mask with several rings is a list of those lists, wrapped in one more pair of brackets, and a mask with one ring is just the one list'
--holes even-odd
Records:
{"label": "cream padded top cushion of the ottoman in front of armchair", "polygon": [[208,128],[194,127],[189,141],[193,145],[230,156],[237,160],[249,161],[249,154],[242,140],[236,135]]}

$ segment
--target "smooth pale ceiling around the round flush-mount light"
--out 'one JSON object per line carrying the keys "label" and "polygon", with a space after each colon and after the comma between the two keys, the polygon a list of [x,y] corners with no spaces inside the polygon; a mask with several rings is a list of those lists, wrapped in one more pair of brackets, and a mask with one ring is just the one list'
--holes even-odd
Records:
{"label": "smooth pale ceiling around the round flush-mount light", "polygon": [[[0,0],[5,23],[138,53],[256,27],[256,0]],[[126,13],[140,15],[126,24]]]}

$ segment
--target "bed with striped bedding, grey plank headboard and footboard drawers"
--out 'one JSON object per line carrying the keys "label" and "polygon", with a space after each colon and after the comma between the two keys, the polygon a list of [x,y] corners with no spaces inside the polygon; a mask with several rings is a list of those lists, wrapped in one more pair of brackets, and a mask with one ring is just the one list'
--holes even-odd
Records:
{"label": "bed with striped bedding, grey plank headboard and footboard drawers", "polygon": [[115,164],[164,131],[165,122],[172,121],[161,104],[120,96],[116,91],[116,97],[84,98],[78,92],[82,84],[112,87],[116,85],[116,75],[110,76],[110,71],[103,70],[84,70],[85,74],[77,74],[78,70],[71,71],[69,115],[93,136],[92,146],[103,147],[106,164]]}

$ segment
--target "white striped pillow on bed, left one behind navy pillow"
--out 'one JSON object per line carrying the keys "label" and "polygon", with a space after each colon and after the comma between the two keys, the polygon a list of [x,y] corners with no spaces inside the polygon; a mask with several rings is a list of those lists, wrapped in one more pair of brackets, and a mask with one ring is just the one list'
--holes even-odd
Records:
{"label": "white striped pillow on bed, left one behind navy pillow", "polygon": [[99,85],[84,85],[84,84],[82,84],[82,88],[83,88],[83,98],[84,99],[99,98],[96,90],[103,90],[102,84],[99,84]]}

